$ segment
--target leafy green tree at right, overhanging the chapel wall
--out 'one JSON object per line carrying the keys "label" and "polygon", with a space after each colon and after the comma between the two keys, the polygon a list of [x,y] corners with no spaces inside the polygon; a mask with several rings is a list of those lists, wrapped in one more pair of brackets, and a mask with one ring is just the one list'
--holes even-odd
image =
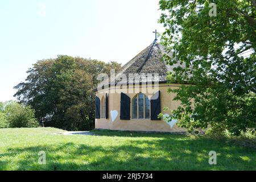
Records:
{"label": "leafy green tree at right, overhanging the chapel wall", "polygon": [[[216,16],[210,16],[210,3]],[[162,43],[174,52],[164,59],[185,65],[168,73],[182,84],[169,90],[181,101],[172,111],[179,126],[193,131],[210,125],[236,135],[255,129],[255,0],[160,0],[159,6]]]}

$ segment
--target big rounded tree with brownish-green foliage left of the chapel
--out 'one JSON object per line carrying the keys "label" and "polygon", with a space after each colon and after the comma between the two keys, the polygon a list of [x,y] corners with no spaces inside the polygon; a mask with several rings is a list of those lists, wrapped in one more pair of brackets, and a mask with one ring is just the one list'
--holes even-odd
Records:
{"label": "big rounded tree with brownish-green foliage left of the chapel", "polygon": [[35,109],[45,126],[67,130],[94,128],[94,92],[100,73],[121,68],[116,62],[60,55],[40,60],[28,69],[26,82],[15,86],[20,102]]}

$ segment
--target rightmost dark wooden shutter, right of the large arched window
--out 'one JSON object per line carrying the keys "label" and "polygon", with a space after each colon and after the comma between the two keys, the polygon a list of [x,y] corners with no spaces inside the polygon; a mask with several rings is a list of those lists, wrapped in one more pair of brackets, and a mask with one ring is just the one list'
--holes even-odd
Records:
{"label": "rightmost dark wooden shutter, right of the large arched window", "polygon": [[150,100],[151,120],[161,120],[161,118],[158,118],[158,114],[161,112],[160,106],[160,91],[158,91]]}

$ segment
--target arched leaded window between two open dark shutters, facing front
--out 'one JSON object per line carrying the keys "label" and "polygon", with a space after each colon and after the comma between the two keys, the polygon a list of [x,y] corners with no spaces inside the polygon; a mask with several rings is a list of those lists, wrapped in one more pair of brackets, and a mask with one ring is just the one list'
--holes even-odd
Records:
{"label": "arched leaded window between two open dark shutters, facing front", "polygon": [[132,101],[132,116],[133,119],[149,119],[150,118],[150,101],[143,94],[137,94]]}

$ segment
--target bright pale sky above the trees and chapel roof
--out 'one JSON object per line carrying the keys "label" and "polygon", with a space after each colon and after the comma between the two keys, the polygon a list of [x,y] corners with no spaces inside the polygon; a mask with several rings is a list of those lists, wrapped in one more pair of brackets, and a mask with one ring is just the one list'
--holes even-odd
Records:
{"label": "bright pale sky above the trees and chapel roof", "polygon": [[153,40],[159,0],[0,2],[0,101],[37,60],[71,55],[125,64]]}

